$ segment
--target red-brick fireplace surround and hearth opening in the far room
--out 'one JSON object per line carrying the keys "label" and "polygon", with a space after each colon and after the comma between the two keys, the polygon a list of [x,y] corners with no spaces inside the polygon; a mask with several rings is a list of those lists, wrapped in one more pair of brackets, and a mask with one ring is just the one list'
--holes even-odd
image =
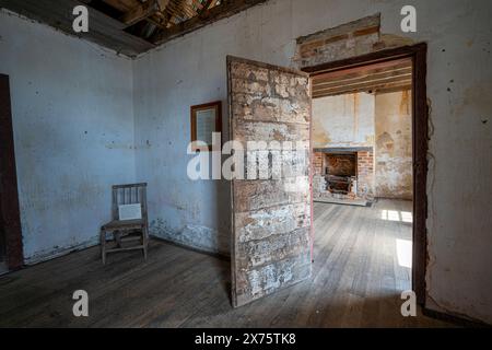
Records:
{"label": "red-brick fireplace surround and hearth opening in the far room", "polygon": [[313,166],[315,199],[373,199],[373,148],[315,149]]}

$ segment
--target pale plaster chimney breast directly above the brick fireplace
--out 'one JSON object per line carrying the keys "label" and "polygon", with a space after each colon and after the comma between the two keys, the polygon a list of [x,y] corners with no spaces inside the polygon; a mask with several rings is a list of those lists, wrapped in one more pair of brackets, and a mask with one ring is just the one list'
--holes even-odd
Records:
{"label": "pale plaster chimney breast directly above the brick fireplace", "polygon": [[374,103],[366,93],[313,100],[313,148],[373,147]]}

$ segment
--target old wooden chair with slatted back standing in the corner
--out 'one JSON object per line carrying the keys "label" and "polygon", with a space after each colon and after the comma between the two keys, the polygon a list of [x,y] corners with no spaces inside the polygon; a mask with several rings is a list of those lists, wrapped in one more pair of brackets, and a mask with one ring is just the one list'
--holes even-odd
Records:
{"label": "old wooden chair with slatted back standing in the corner", "polygon": [[[120,220],[120,206],[140,205],[140,219]],[[138,208],[130,206],[133,209]],[[147,247],[149,243],[149,222],[147,215],[147,184],[130,184],[113,186],[113,220],[101,228],[101,253],[103,264],[106,264],[108,253],[142,249],[147,260]],[[107,234],[113,234],[107,240]],[[129,242],[138,242],[127,245]]]}

